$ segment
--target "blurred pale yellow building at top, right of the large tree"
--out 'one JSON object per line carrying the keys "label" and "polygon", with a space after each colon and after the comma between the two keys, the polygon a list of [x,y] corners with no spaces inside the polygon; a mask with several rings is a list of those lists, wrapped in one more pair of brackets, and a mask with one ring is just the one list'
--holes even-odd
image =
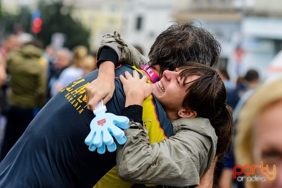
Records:
{"label": "blurred pale yellow building at top, right of the large tree", "polygon": [[103,35],[121,31],[125,0],[68,0],[74,5],[73,18],[91,30],[90,48],[98,48]]}

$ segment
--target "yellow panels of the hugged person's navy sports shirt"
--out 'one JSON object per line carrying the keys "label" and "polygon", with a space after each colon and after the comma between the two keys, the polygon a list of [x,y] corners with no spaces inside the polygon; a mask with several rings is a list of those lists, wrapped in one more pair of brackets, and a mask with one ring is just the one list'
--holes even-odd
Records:
{"label": "yellow panels of the hugged person's navy sports shirt", "polygon": [[[135,66],[138,72],[142,74]],[[143,74],[142,74],[143,75]],[[150,144],[159,143],[162,139],[166,138],[164,132],[160,128],[160,122],[157,119],[155,106],[152,104],[152,95],[150,95],[143,102],[142,120],[145,122]],[[113,167],[107,174],[105,174],[93,188],[130,188],[133,183],[125,182],[117,176],[117,167]],[[146,184],[146,186],[154,186],[154,184]]]}

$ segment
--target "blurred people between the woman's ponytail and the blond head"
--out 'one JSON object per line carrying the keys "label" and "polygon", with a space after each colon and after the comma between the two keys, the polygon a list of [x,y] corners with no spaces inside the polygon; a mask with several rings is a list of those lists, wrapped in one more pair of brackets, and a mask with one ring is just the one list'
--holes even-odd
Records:
{"label": "blurred people between the woman's ponytail and the blond head", "polygon": [[[225,84],[227,104],[233,109],[234,134],[236,135],[238,112],[260,83],[259,73],[256,70],[250,69],[243,77],[238,77],[235,84],[230,81],[229,74],[226,69],[219,69],[218,73]],[[235,155],[236,153],[234,151],[233,144],[231,144],[226,151],[226,155],[221,157],[217,163],[216,174],[219,179],[220,188],[244,187],[243,182],[236,181],[233,177],[233,169],[236,165]]]}

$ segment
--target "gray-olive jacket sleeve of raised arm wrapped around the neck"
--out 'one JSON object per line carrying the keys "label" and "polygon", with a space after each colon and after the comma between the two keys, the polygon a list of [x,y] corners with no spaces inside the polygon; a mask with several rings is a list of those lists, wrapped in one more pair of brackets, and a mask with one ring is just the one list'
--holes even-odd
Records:
{"label": "gray-olive jacket sleeve of raised arm wrapped around the neck", "polygon": [[120,33],[118,31],[115,31],[112,35],[108,34],[103,36],[97,51],[98,56],[101,48],[104,46],[108,46],[117,52],[119,63],[125,63],[131,66],[135,65],[137,68],[140,68],[140,66],[145,65],[148,62],[147,58],[140,54],[136,48],[120,37]]}

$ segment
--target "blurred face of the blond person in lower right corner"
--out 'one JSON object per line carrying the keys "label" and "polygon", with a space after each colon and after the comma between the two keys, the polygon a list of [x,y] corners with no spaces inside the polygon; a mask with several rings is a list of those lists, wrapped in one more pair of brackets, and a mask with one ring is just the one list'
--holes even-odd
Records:
{"label": "blurred face of the blond person in lower right corner", "polygon": [[[266,107],[254,121],[254,164],[263,162],[269,171],[276,166],[275,178],[259,181],[259,188],[282,188],[282,100]],[[257,171],[257,176],[266,176]],[[270,175],[270,178],[272,175]]]}

